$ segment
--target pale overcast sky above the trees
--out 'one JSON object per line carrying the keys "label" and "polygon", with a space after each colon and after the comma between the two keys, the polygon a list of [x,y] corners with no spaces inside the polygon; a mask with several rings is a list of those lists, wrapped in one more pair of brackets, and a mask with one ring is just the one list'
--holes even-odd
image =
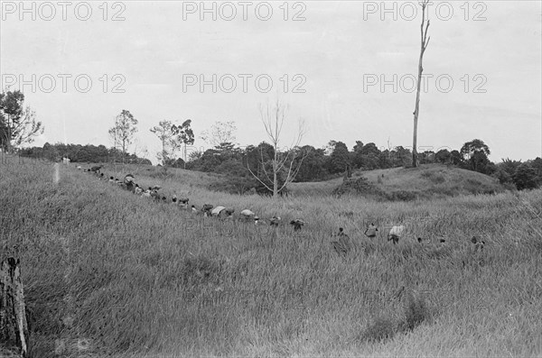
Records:
{"label": "pale overcast sky above the trees", "polygon": [[[200,2],[20,4],[2,2],[0,72],[45,126],[36,145],[112,146],[107,130],[123,109],[154,162],[149,128],[164,119],[192,119],[196,147],[216,121],[235,121],[237,142],[257,144],[266,140],[258,104],[279,96],[289,106],[284,146],[300,118],[317,148],[412,146],[417,2],[206,2],[207,13]],[[541,3],[436,1],[428,14],[418,151],[479,138],[492,161],[541,156]],[[213,75],[216,93],[199,83]]]}

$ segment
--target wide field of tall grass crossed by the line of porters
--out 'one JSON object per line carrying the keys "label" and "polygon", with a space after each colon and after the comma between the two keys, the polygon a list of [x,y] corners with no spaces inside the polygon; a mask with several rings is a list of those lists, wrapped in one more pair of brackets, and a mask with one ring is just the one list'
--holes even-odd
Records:
{"label": "wide field of tall grass crossed by the line of porters", "polygon": [[[274,202],[147,169],[104,172],[308,225],[203,219],[74,165],[5,161],[0,247],[22,261],[32,357],[542,356],[542,190]],[[394,246],[385,228],[399,224]],[[355,246],[344,258],[330,246],[340,226]]]}

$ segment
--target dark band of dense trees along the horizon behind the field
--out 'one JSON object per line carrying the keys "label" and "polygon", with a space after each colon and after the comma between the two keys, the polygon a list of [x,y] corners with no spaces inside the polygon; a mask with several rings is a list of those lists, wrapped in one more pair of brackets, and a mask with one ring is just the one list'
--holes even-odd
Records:
{"label": "dark band of dense trees along the horizon behind the field", "polygon": [[[296,147],[290,151],[304,152],[297,155],[294,166],[299,164],[294,182],[322,181],[341,176],[349,177],[352,170],[378,170],[411,167],[412,152],[401,146],[391,150],[378,149],[374,142],[357,141],[352,150],[344,142],[331,141],[325,148],[314,148],[311,145]],[[135,153],[125,153],[105,145],[80,145],[45,143],[42,147],[23,148],[18,151],[23,157],[42,158],[49,161],[61,161],[68,157],[80,163],[130,163],[152,165],[148,159],[138,157]],[[258,194],[267,194],[269,190],[259,182],[249,170],[252,170],[264,183],[271,185],[272,180],[266,178],[265,169],[270,170],[275,149],[268,142],[258,145],[240,147],[232,142],[222,142],[206,151],[192,151],[188,160],[168,158],[161,165],[165,168],[185,168],[208,173],[223,174],[225,180],[216,183],[210,189],[244,194],[256,189]],[[457,151],[441,149],[440,151],[424,151],[419,153],[420,164],[441,163],[465,170],[473,170],[491,175],[510,189],[539,188],[542,184],[542,159],[531,161],[512,161],[504,159],[493,163],[488,159],[489,147],[481,140],[466,142]],[[281,152],[280,155],[285,155]],[[303,158],[303,161],[301,159]],[[297,161],[301,161],[298,163]],[[260,166],[264,163],[264,167]],[[280,171],[278,184],[285,182],[285,171]],[[285,187],[287,188],[287,187]],[[285,193],[283,189],[281,193]],[[279,193],[279,194],[281,194]]]}

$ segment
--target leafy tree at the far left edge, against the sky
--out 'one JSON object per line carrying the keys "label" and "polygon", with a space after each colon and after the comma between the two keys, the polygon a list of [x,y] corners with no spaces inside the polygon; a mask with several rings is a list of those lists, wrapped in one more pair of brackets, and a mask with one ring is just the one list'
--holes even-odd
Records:
{"label": "leafy tree at the far left edge, against the sky", "polygon": [[35,112],[23,106],[21,91],[0,93],[0,148],[11,151],[43,133],[42,122],[36,121]]}

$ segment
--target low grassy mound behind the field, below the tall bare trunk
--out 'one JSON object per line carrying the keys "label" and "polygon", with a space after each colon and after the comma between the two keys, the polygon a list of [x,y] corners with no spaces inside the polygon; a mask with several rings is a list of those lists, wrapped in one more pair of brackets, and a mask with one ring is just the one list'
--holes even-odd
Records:
{"label": "low grassy mound behind the field, below the tall bare trunk", "polygon": [[[376,188],[365,196],[379,199],[442,198],[504,191],[497,179],[476,171],[441,164],[425,164],[419,168],[362,170],[355,172],[353,179],[361,176]],[[292,183],[289,188],[294,195],[299,196],[332,195],[333,189],[340,187],[342,181],[342,178],[338,178],[313,183]]]}

